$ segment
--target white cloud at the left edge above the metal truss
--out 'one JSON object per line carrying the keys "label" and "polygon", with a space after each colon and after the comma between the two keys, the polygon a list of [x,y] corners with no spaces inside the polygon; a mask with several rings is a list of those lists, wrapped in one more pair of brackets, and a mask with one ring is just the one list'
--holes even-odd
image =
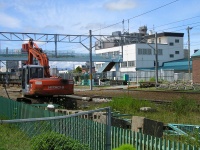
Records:
{"label": "white cloud at the left edge above the metal truss", "polygon": [[0,13],[0,26],[8,27],[8,28],[19,28],[20,21],[16,18],[13,18],[7,14]]}

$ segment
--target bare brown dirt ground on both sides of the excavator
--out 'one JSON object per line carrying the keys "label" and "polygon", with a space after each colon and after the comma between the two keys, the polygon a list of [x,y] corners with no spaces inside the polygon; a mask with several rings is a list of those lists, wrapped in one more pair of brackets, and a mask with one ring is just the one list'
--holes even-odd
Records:
{"label": "bare brown dirt ground on both sides of the excavator", "polygon": [[[16,100],[17,97],[21,97],[21,87],[20,86],[10,86],[7,87],[7,92],[3,86],[0,86],[0,96]],[[8,93],[8,94],[7,94]],[[150,99],[150,100],[176,100],[182,96],[194,99],[200,102],[200,93],[193,92],[178,92],[178,91],[141,91],[136,89],[124,89],[124,88],[94,88],[90,90],[89,87],[74,88],[74,94],[80,96],[89,97],[122,97],[122,96],[132,96],[136,99]]]}

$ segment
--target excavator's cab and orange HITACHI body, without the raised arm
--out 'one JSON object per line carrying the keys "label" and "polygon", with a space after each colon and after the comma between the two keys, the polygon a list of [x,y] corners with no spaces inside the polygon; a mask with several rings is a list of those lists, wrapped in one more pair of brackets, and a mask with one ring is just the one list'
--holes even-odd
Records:
{"label": "excavator's cab and orange HITACHI body, without the raised arm", "polygon": [[73,80],[44,76],[44,67],[25,65],[22,69],[23,96],[55,96],[74,94]]}

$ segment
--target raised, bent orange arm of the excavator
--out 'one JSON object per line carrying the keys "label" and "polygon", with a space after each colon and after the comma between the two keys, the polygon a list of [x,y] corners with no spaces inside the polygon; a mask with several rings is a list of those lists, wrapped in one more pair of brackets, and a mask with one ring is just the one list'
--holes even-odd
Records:
{"label": "raised, bent orange arm of the excavator", "polygon": [[43,50],[33,42],[33,39],[30,39],[26,44],[22,44],[22,48],[28,52],[28,61],[26,64],[33,65],[33,58],[37,59],[40,65],[44,67],[44,77],[50,77],[48,57]]}

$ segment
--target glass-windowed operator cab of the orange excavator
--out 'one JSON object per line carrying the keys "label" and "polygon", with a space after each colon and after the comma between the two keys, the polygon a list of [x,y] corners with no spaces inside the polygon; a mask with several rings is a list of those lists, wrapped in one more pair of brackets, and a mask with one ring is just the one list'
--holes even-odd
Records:
{"label": "glass-windowed operator cab of the orange excavator", "polygon": [[44,78],[44,68],[39,65],[25,65],[22,68],[22,93],[30,91],[30,80]]}

